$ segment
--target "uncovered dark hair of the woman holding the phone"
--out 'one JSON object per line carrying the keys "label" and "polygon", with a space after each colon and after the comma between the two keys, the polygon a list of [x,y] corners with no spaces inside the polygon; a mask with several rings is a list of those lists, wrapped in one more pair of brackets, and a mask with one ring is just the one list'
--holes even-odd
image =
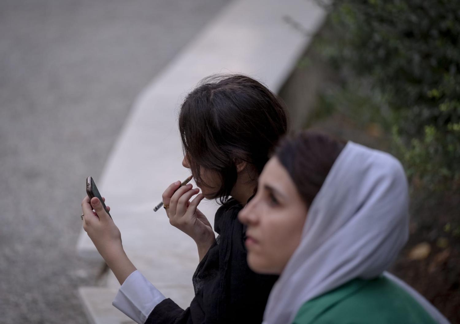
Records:
{"label": "uncovered dark hair of the woman holding the phone", "polygon": [[244,75],[211,76],[185,98],[179,132],[197,183],[200,168],[216,171],[221,186],[213,198],[225,203],[236,184],[236,164],[245,161],[259,175],[274,145],[288,131],[282,101]]}

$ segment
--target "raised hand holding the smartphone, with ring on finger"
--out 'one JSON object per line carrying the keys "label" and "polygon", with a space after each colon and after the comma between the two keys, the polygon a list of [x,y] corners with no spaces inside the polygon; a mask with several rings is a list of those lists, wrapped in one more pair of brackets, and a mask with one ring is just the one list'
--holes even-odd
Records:
{"label": "raised hand holding the smartphone, with ring on finger", "polygon": [[[104,197],[102,199],[105,201]],[[90,201],[86,196],[81,202],[81,209],[84,214],[83,229],[104,260],[107,262],[109,258],[123,254],[120,230],[105,212],[99,199],[94,197]],[[110,207],[107,207],[107,210],[110,210]]]}

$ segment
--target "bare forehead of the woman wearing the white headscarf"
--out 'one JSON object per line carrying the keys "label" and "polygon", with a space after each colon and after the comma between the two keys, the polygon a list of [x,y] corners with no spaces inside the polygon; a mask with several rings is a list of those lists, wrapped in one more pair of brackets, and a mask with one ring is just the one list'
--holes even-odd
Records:
{"label": "bare forehead of the woman wearing the white headscarf", "polygon": [[276,156],[273,156],[265,164],[264,170],[259,177],[259,187],[264,185],[285,193],[287,196],[297,195],[297,188],[288,171],[282,166]]}

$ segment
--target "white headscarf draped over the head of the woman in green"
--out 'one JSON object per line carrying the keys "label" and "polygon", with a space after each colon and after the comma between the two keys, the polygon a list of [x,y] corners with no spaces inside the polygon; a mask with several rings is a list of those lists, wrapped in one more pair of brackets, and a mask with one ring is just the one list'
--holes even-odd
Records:
{"label": "white headscarf draped over the head of the woman in green", "polygon": [[[264,324],[292,323],[299,308],[351,279],[372,279],[393,263],[408,239],[408,184],[399,161],[348,142],[305,220],[302,238],[271,290]],[[449,323],[407,290],[438,323]]]}

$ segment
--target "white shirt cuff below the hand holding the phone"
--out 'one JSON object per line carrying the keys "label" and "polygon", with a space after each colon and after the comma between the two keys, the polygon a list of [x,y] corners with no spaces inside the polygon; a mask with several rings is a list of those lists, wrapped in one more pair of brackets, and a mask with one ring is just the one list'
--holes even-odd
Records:
{"label": "white shirt cuff below the hand holding the phone", "polygon": [[138,270],[128,276],[121,285],[112,305],[138,324],[144,324],[156,305],[165,300]]}

